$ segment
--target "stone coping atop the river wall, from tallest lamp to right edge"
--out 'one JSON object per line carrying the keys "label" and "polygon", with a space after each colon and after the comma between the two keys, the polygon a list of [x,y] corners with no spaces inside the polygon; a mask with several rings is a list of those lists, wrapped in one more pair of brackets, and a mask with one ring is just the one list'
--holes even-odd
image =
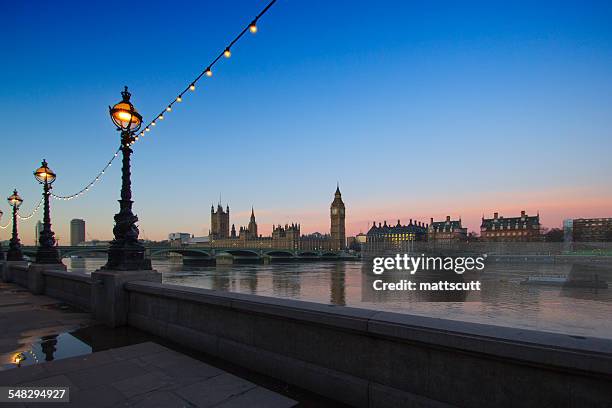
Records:
{"label": "stone coping atop the river wall, from tallest lamp to right edge", "polygon": [[245,313],[325,325],[392,341],[510,358],[527,364],[612,375],[612,340],[155,282],[129,282],[128,291],[226,307]]}

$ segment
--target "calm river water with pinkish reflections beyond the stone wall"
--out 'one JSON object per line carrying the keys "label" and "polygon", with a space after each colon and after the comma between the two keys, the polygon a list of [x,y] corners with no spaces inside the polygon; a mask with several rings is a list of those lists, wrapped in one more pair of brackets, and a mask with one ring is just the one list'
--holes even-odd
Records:
{"label": "calm river water with pinkish reflections beyond the stone wall", "polygon": [[[99,258],[64,261],[69,270],[82,272],[91,272],[105,262]],[[568,265],[488,267],[481,276],[482,291],[471,293],[463,302],[400,299],[393,293],[365,301],[361,262],[184,266],[154,260],[153,267],[163,273],[165,283],[176,285],[612,339],[612,289],[519,284],[534,274],[566,275]]]}

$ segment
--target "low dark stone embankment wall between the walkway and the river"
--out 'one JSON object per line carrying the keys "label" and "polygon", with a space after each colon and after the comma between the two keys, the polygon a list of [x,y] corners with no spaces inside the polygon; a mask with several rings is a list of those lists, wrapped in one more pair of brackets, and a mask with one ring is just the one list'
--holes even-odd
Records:
{"label": "low dark stone embankment wall between the walkway and the river", "polygon": [[[32,282],[24,274],[37,271],[15,265],[9,272]],[[108,308],[94,295],[106,284],[88,275],[43,270],[39,278],[40,293],[50,284],[54,296],[80,300],[75,291],[90,290],[92,310]],[[577,408],[612,401],[611,340],[138,278],[115,288],[126,301],[114,309],[117,318],[102,315],[101,323],[122,321],[357,407]]]}

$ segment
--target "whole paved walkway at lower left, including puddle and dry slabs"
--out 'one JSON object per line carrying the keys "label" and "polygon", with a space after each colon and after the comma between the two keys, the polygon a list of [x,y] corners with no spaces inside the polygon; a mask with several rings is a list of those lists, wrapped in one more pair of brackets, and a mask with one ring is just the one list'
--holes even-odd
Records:
{"label": "whole paved walkway at lower left, including puddle and dry slabs", "polygon": [[[41,338],[94,323],[88,313],[46,296],[34,296],[19,286],[0,283],[0,386],[70,387],[69,404],[45,403],[46,407],[296,405],[296,401],[281,394],[153,342],[95,353],[78,344],[70,345],[67,348],[72,349],[72,355],[82,355],[61,358],[62,347],[56,349],[63,341],[60,339],[60,344],[46,347],[55,359],[44,361],[45,342],[41,343]],[[25,352],[27,359],[23,366],[14,367],[13,358],[19,352]]]}

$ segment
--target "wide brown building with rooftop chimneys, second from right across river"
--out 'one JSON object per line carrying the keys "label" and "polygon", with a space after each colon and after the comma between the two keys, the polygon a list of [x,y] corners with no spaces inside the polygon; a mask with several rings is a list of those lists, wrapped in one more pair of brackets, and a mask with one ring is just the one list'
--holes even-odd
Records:
{"label": "wide brown building with rooftop chimneys, second from right across river", "polygon": [[527,215],[521,211],[520,217],[504,218],[494,213],[493,218],[482,218],[480,224],[481,241],[527,242],[541,241],[540,215]]}

